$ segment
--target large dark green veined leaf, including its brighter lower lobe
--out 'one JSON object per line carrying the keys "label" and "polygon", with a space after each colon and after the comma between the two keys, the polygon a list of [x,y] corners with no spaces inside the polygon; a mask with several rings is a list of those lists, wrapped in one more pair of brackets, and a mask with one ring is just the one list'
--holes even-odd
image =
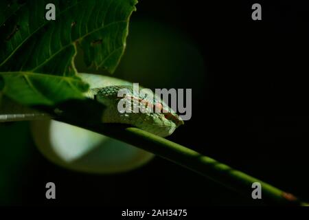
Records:
{"label": "large dark green veined leaf, including its brighter lower lobe", "polygon": [[[56,5],[56,21],[45,5]],[[3,94],[23,104],[82,98],[88,85],[73,65],[76,47],[87,65],[113,72],[137,0],[31,0],[0,3],[0,82]]]}

